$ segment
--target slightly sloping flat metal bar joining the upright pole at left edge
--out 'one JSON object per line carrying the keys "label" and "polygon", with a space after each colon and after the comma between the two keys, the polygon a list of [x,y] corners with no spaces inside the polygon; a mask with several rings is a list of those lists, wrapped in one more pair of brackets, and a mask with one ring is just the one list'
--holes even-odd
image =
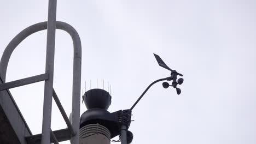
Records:
{"label": "slightly sloping flat metal bar joining the upright pole at left edge", "polygon": [[9,88],[14,88],[14,87],[20,87],[20,86],[24,86],[24,85],[28,85],[31,83],[35,83],[35,82],[39,82],[39,81],[44,81],[44,80],[48,80],[48,74],[42,74],[42,75],[36,75],[36,76],[31,76],[31,77],[27,77],[25,79],[20,79],[20,80],[16,80],[16,81],[11,81],[11,82],[7,82],[7,83],[3,83],[0,85],[0,91],[3,91],[5,89],[9,89]]}

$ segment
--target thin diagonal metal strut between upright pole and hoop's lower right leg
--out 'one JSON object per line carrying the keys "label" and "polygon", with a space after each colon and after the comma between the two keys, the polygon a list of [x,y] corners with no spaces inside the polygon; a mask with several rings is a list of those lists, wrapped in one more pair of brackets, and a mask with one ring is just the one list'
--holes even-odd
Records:
{"label": "thin diagonal metal strut between upright pole and hoop's lower right leg", "polygon": [[57,106],[59,107],[61,115],[64,118],[64,120],[65,120],[65,122],[67,124],[67,127],[68,127],[69,131],[71,132],[71,135],[74,136],[75,135],[74,129],[73,129],[71,123],[69,122],[67,114],[66,114],[65,110],[63,109],[63,107],[61,105],[61,102],[60,102],[60,99],[58,98],[58,96],[57,96],[56,92],[54,91],[54,89],[53,89],[53,98],[54,98]]}

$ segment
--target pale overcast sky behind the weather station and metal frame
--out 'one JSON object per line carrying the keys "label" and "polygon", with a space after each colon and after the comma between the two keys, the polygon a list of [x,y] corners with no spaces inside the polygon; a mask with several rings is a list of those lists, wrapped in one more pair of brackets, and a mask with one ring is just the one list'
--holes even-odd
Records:
{"label": "pale overcast sky behind the weather station and metal frame", "polygon": [[[0,56],[47,15],[48,1],[2,1]],[[82,40],[82,91],[85,80],[92,88],[96,79],[100,88],[103,79],[105,89],[112,85],[110,112],[129,109],[151,82],[170,76],[153,53],[184,75],[181,95],[158,83],[133,109],[132,143],[256,143],[256,1],[62,0],[57,20]],[[56,31],[55,47],[54,88],[69,115],[73,44],[66,32]],[[24,40],[6,81],[43,74],[45,51],[46,31]],[[42,131],[43,89],[43,82],[10,89],[33,134]],[[66,128],[54,101],[51,128]]]}

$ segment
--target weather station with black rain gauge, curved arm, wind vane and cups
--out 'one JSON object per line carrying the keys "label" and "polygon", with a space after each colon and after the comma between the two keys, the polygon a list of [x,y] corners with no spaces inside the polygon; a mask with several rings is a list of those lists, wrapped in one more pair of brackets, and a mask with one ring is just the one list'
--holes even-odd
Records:
{"label": "weather station with black rain gauge, curved arm, wind vane and cups", "polygon": [[[171,76],[152,82],[130,109],[110,113],[107,110],[111,104],[111,95],[107,91],[95,88],[84,93],[83,101],[88,110],[80,117],[80,144],[109,144],[110,142],[129,144],[133,139],[132,132],[128,130],[132,122],[132,110],[151,86],[160,81],[172,81],[172,85],[168,82],[163,82],[162,86],[164,88],[170,86],[176,88],[177,94],[181,94],[181,89],[177,88],[177,85],[182,85],[183,79],[179,78],[177,80],[177,76],[183,75],[176,70],[170,69],[158,55],[154,54],[154,56],[161,67],[171,71]],[[111,140],[118,135],[119,140]]]}

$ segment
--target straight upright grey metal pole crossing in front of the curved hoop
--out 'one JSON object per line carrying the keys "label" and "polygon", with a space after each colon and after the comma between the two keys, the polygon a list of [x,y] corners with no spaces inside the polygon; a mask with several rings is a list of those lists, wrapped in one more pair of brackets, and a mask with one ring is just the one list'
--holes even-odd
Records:
{"label": "straight upright grey metal pole crossing in front of the curved hoop", "polygon": [[56,0],[49,0],[46,63],[45,63],[45,73],[49,74],[49,79],[44,82],[42,144],[50,143],[50,134],[51,134],[51,106],[52,106],[52,100],[53,100],[52,96],[53,96],[53,78],[54,78],[56,5],[57,5]]}

